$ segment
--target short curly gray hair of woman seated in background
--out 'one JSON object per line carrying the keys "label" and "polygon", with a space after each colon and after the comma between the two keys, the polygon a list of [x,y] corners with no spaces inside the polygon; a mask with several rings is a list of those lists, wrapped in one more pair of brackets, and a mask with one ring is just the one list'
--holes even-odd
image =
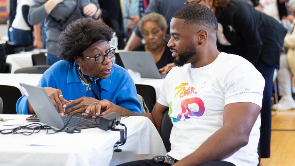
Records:
{"label": "short curly gray hair of woman seated in background", "polygon": [[158,13],[149,13],[145,15],[144,17],[142,17],[142,19],[140,19],[139,21],[138,28],[140,33],[142,33],[143,25],[145,24],[145,22],[148,22],[148,21],[156,22],[161,28],[161,30],[167,29],[167,21],[163,15]]}

